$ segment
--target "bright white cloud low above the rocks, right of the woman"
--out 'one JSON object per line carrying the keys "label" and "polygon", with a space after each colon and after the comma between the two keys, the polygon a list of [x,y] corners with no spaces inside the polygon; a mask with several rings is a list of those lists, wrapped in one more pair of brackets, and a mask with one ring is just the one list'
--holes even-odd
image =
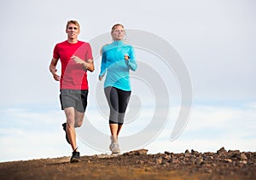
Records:
{"label": "bright white cloud low above the rocks, right of the woman", "polygon": [[206,152],[219,148],[256,150],[256,108],[254,102],[238,107],[218,107],[200,105],[193,107],[189,123],[181,136],[170,141],[172,125],[146,148],[150,152],[184,152],[192,149]]}

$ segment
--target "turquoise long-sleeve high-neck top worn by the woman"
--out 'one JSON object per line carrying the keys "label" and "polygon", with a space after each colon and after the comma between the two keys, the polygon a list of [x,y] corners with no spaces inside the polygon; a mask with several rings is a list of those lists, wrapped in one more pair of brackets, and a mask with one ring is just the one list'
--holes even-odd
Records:
{"label": "turquoise long-sleeve high-neck top worn by the woman", "polygon": [[[125,60],[128,55],[129,60]],[[130,69],[136,71],[137,63],[135,61],[134,49],[123,41],[113,41],[102,48],[102,65],[100,77],[105,73],[106,79],[104,88],[113,86],[120,90],[131,90]]]}

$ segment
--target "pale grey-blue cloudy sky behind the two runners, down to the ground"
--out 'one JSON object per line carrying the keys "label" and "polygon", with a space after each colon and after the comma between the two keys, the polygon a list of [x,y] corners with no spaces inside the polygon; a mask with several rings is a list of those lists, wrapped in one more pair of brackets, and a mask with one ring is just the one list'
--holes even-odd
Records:
{"label": "pale grey-blue cloudy sky behind the two runners, down to the ground", "polygon": [[[216,152],[222,147],[256,151],[255,8],[253,0],[1,1],[0,162],[71,155],[61,129],[65,116],[58,99],[59,84],[49,73],[55,44],[67,39],[67,20],[79,21],[80,40],[90,42],[108,34],[113,24],[121,23],[127,30],[149,32],[164,39],[182,58],[186,67],[182,71],[188,71],[191,79],[193,103],[183,131],[171,141],[173,126],[183,107],[178,79],[160,55],[136,49],[137,61],[153,69],[152,73],[159,74],[166,84],[170,110],[160,131],[136,148],[147,148],[152,154],[180,153],[186,149]],[[131,42],[140,41],[140,37],[131,34],[130,38]],[[97,104],[105,101],[102,94],[96,93],[102,90],[97,81],[100,56],[96,49],[92,51],[96,70],[88,74],[90,97],[83,127],[90,124],[96,132],[109,136],[105,121],[108,107]],[[154,81],[140,79],[139,74],[151,74],[147,68],[138,67],[138,72],[131,74],[136,78],[131,81],[133,106],[128,108],[136,111],[137,116],[130,121],[127,118],[129,123],[120,135],[124,141],[125,136],[153,125],[156,107],[158,113],[165,111],[155,104],[160,95],[154,94]],[[141,106],[136,109],[138,104]],[[106,144],[102,150],[86,143],[99,141],[97,134],[86,133],[82,128],[78,131],[81,155],[110,153],[107,137],[99,142]],[[125,150],[134,150],[126,145]]]}

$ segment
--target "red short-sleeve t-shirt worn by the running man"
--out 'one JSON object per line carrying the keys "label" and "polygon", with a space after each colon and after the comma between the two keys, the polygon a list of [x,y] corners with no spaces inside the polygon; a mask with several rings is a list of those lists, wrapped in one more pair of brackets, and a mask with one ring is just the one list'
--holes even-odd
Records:
{"label": "red short-sleeve t-shirt worn by the running man", "polygon": [[78,41],[70,44],[68,41],[56,44],[53,57],[61,60],[61,89],[88,90],[87,73],[81,64],[76,64],[72,55],[87,61],[92,58],[89,43]]}

